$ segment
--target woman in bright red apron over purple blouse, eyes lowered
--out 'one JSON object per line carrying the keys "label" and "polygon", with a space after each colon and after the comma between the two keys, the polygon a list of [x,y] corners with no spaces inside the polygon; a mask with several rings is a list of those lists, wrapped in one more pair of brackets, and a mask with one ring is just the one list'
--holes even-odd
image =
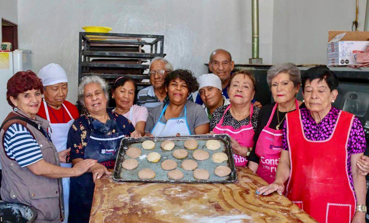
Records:
{"label": "woman in bright red apron over purple blouse, eyes lowered", "polygon": [[[302,78],[306,108],[287,114],[275,181],[256,194],[286,195],[318,222],[365,222],[366,181],[355,165],[365,151],[360,121],[332,107],[338,79],[325,66]],[[317,152],[318,151],[318,152]]]}

